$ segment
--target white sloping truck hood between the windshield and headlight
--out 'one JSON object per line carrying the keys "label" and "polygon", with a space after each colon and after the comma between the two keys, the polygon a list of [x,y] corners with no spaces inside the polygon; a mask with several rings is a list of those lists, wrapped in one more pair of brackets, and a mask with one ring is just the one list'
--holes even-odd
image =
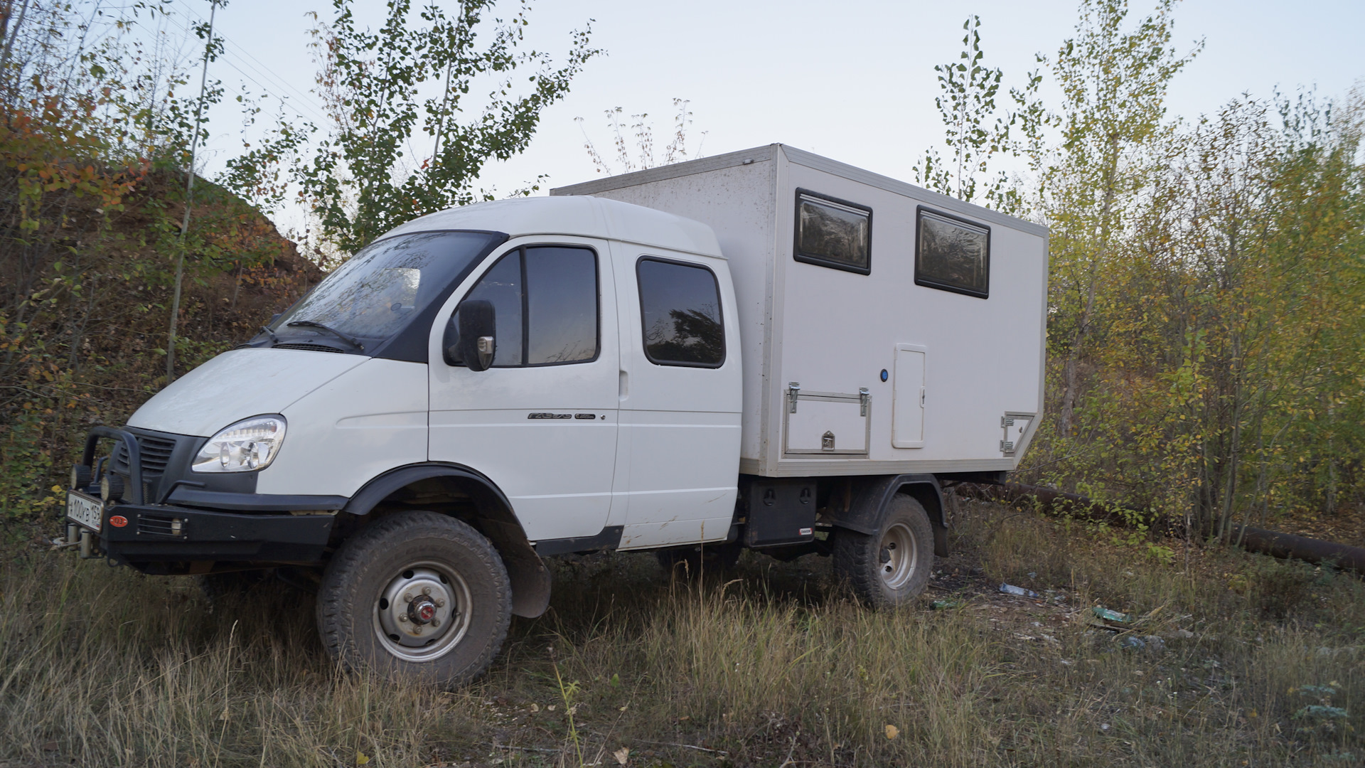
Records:
{"label": "white sloping truck hood between the windshield and headlight", "polygon": [[232,350],[176,379],[142,403],[128,426],[210,437],[235,421],[281,413],[369,359],[308,350]]}

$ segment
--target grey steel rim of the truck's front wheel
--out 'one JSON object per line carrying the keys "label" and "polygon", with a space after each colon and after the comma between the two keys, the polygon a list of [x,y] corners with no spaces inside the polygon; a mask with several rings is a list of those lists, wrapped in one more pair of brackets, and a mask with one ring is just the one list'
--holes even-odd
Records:
{"label": "grey steel rim of the truck's front wheel", "polygon": [[470,586],[455,568],[414,562],[394,571],[375,596],[374,634],[404,661],[431,661],[464,640],[471,604]]}

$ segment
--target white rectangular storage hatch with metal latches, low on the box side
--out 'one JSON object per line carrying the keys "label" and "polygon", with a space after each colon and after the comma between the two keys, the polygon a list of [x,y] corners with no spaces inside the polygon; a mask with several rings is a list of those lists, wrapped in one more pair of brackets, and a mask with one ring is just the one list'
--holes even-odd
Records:
{"label": "white rectangular storage hatch with metal latches, low on the box side", "polygon": [[792,381],[786,388],[785,411],[784,456],[867,456],[872,424],[872,396],[867,389],[808,392]]}

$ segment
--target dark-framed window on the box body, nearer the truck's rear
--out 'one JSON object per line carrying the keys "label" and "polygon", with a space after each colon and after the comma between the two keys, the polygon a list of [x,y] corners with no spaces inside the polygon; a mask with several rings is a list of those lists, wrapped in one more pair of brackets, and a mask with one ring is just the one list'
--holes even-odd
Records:
{"label": "dark-framed window on the box body, nearer the truck's rear", "polygon": [[919,208],[915,223],[915,284],[987,298],[991,288],[991,228]]}

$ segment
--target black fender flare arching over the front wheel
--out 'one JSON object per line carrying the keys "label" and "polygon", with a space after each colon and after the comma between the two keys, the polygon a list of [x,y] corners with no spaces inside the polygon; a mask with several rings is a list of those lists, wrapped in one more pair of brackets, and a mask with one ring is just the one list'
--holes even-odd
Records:
{"label": "black fender flare arching over the front wheel", "polygon": [[389,470],[364,484],[343,507],[343,512],[369,515],[393,492],[422,480],[453,481],[479,510],[478,518],[465,521],[493,543],[508,570],[512,585],[512,614],[534,619],[550,605],[550,570],[535,553],[521,522],[502,489],[479,471],[467,466],[440,462],[408,465]]}

